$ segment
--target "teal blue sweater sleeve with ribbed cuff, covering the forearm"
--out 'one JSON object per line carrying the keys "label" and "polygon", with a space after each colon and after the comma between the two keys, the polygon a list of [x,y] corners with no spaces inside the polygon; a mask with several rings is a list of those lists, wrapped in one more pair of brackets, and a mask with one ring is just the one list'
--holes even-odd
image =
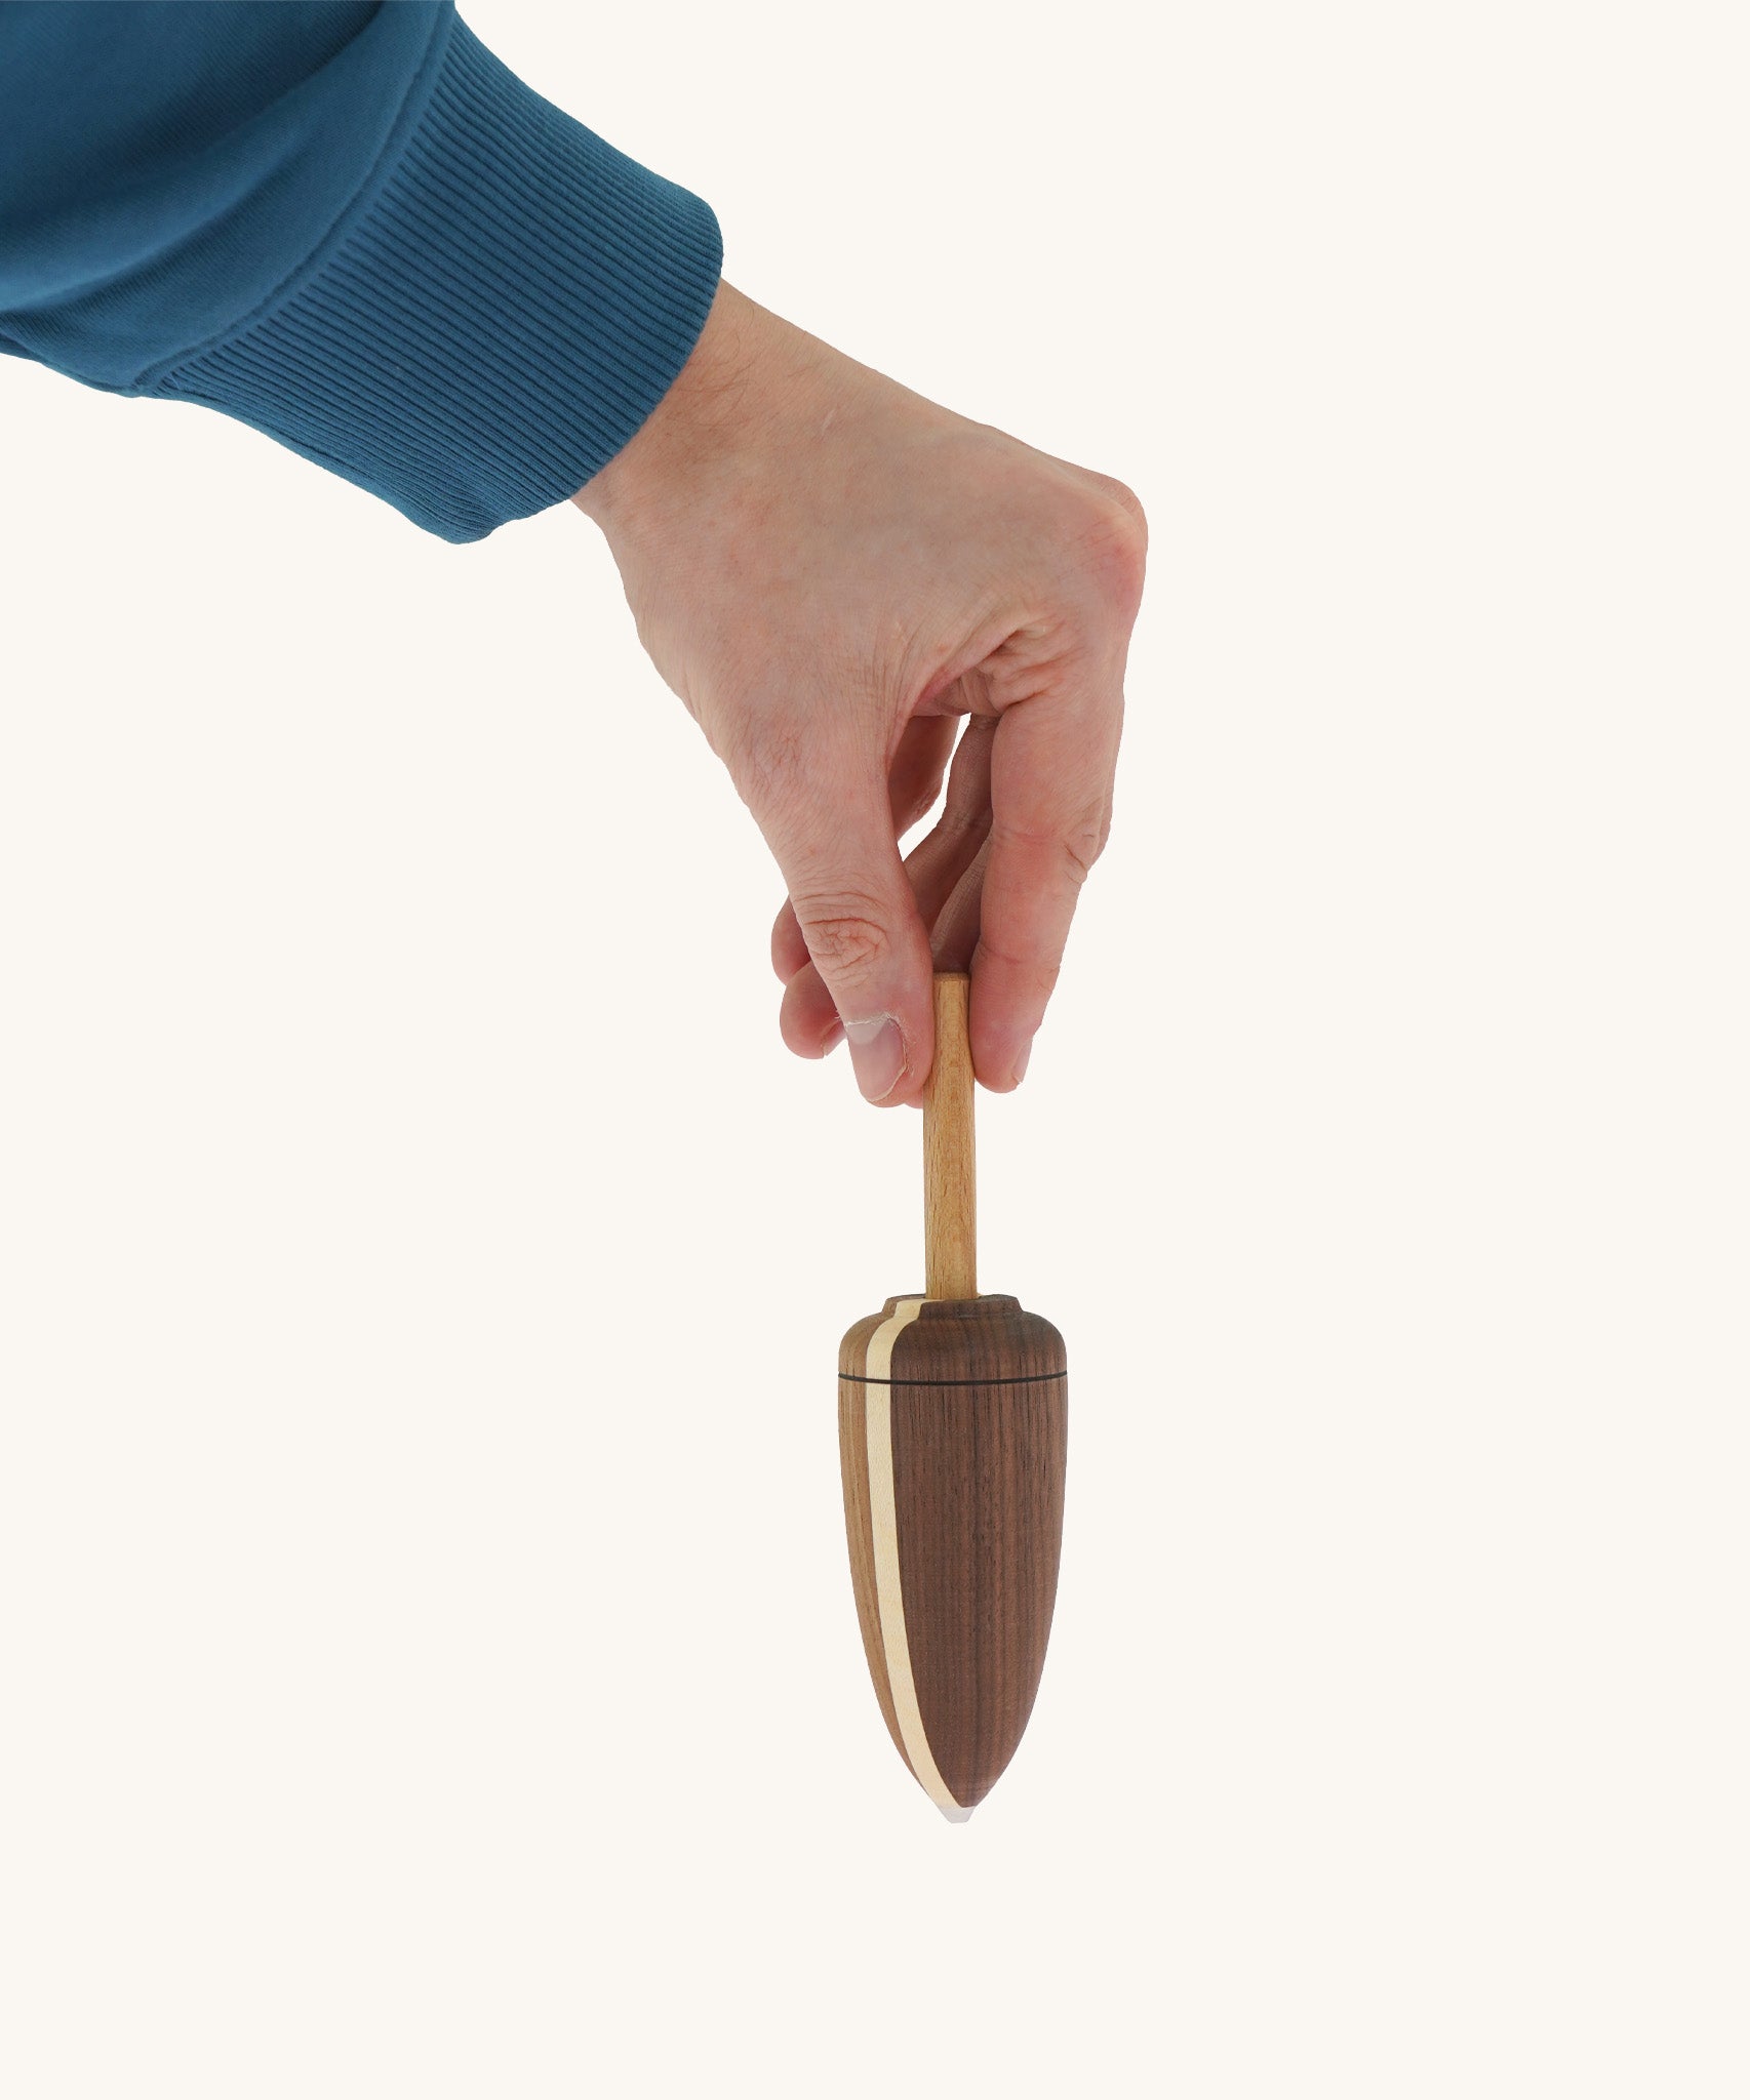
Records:
{"label": "teal blue sweater sleeve with ribbed cuff, covering the forearm", "polygon": [[721,260],[447,0],[0,6],[0,351],[237,416],[445,540],[620,452]]}

